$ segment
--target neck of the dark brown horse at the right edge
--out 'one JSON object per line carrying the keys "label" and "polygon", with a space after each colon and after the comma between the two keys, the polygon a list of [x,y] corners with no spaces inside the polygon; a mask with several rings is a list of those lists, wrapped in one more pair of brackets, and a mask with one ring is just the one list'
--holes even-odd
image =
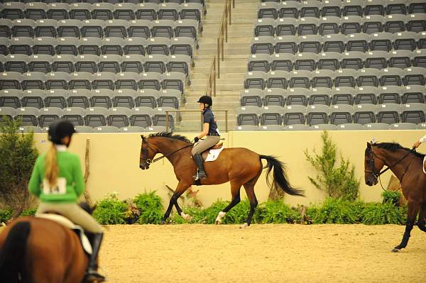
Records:
{"label": "neck of the dark brown horse at the right edge", "polygon": [[[407,153],[407,150],[402,149],[397,151],[390,151],[381,148],[379,152],[376,152],[376,155],[385,161],[385,165],[390,167],[390,170],[393,172],[393,174],[395,174],[396,177],[398,177],[398,179],[402,179],[408,165],[410,165],[410,163],[413,161],[413,158],[415,158],[413,153],[408,153],[408,155]],[[401,160],[402,158],[403,160]],[[398,163],[395,164],[396,162]]]}

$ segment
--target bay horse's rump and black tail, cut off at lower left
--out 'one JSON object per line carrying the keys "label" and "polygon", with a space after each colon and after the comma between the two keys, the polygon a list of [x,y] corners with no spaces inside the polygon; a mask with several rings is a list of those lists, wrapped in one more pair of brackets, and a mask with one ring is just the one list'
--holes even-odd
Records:
{"label": "bay horse's rump and black tail, cut off at lower left", "polygon": [[0,233],[1,282],[82,283],[88,263],[77,233],[55,221],[22,216]]}

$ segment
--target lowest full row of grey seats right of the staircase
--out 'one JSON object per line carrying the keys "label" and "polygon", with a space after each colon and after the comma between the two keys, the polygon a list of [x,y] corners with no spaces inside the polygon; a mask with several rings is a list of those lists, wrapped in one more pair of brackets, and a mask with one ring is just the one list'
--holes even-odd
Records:
{"label": "lowest full row of grey seats right of the staircase", "polygon": [[334,106],[242,106],[237,110],[236,120],[239,126],[252,125],[294,125],[332,123],[340,125],[346,123],[425,123],[425,104],[359,104],[352,107],[345,104]]}

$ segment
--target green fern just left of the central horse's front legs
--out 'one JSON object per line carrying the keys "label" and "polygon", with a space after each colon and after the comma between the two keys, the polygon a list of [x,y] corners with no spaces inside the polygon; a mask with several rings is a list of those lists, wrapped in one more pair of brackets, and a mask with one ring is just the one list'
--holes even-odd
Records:
{"label": "green fern just left of the central horse's front legs", "polygon": [[164,209],[161,198],[154,192],[138,194],[134,203],[141,210],[139,224],[159,224],[163,218]]}

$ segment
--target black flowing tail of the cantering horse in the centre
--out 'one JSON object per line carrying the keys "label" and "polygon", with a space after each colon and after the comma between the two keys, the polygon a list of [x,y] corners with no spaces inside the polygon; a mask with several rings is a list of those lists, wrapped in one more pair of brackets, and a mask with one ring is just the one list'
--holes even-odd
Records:
{"label": "black flowing tail of the cantering horse in the centre", "polygon": [[[261,160],[264,159],[268,162],[266,167],[263,169],[268,168],[268,172],[266,173],[266,182],[271,189],[280,188],[287,194],[291,194],[293,196],[305,196],[302,190],[293,188],[288,182],[288,177],[287,173],[285,172],[285,165],[283,162],[280,162],[280,160],[271,155],[259,155],[259,157]],[[271,173],[272,169],[273,183],[271,184],[271,181],[269,180],[269,173]]]}

